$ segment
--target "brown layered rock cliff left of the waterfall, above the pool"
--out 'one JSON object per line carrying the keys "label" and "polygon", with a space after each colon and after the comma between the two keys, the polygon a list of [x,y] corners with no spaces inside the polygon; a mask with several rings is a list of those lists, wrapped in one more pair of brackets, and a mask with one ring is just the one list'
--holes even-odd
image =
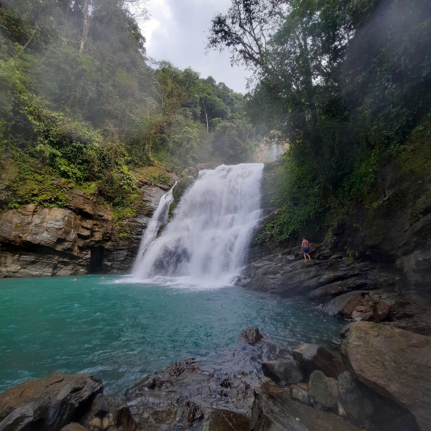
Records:
{"label": "brown layered rock cliff left of the waterfall, above the pool", "polygon": [[0,213],[0,277],[126,272],[133,265],[142,232],[166,191],[142,185],[136,214],[120,227],[112,206],[98,203],[98,191],[69,192],[64,208],[28,204]]}

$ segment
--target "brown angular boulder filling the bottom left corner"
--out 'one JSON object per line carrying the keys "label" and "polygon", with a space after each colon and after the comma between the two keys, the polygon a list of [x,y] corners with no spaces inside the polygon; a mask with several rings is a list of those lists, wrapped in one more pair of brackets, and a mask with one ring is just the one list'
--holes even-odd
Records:
{"label": "brown angular boulder filling the bottom left corner", "polygon": [[58,431],[103,393],[90,374],[55,373],[25,381],[0,394],[0,430]]}

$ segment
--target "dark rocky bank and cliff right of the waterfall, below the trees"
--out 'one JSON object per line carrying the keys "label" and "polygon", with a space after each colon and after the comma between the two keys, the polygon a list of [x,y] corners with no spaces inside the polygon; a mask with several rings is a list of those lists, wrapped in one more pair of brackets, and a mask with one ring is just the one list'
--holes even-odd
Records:
{"label": "dark rocky bank and cliff right of the waterfall, below the trees", "polygon": [[[262,201],[268,215],[277,211],[271,203],[280,166],[265,166]],[[329,232],[308,229],[314,243],[309,262],[295,247],[302,235],[278,244],[262,233],[236,284],[305,297],[334,315],[431,334],[431,180],[391,164],[376,189],[371,199],[380,197],[377,203],[350,208]]]}

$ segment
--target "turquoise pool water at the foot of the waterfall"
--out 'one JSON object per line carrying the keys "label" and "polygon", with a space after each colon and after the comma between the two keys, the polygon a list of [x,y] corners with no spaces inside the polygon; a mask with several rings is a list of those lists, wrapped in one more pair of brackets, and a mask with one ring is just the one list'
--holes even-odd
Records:
{"label": "turquoise pool water at the foot of the waterfall", "polygon": [[84,276],[0,280],[0,392],[53,372],[90,372],[121,395],[188,357],[222,354],[250,325],[279,347],[339,340],[343,322],[240,287],[196,289]]}

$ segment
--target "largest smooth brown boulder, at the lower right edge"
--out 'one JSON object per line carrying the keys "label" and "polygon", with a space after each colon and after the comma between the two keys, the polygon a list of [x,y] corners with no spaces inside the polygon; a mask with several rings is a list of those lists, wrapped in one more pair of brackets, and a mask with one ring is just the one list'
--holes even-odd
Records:
{"label": "largest smooth brown boulder, at the lower right edge", "polygon": [[406,406],[429,430],[431,337],[370,322],[348,325],[341,337],[341,353],[359,381]]}

